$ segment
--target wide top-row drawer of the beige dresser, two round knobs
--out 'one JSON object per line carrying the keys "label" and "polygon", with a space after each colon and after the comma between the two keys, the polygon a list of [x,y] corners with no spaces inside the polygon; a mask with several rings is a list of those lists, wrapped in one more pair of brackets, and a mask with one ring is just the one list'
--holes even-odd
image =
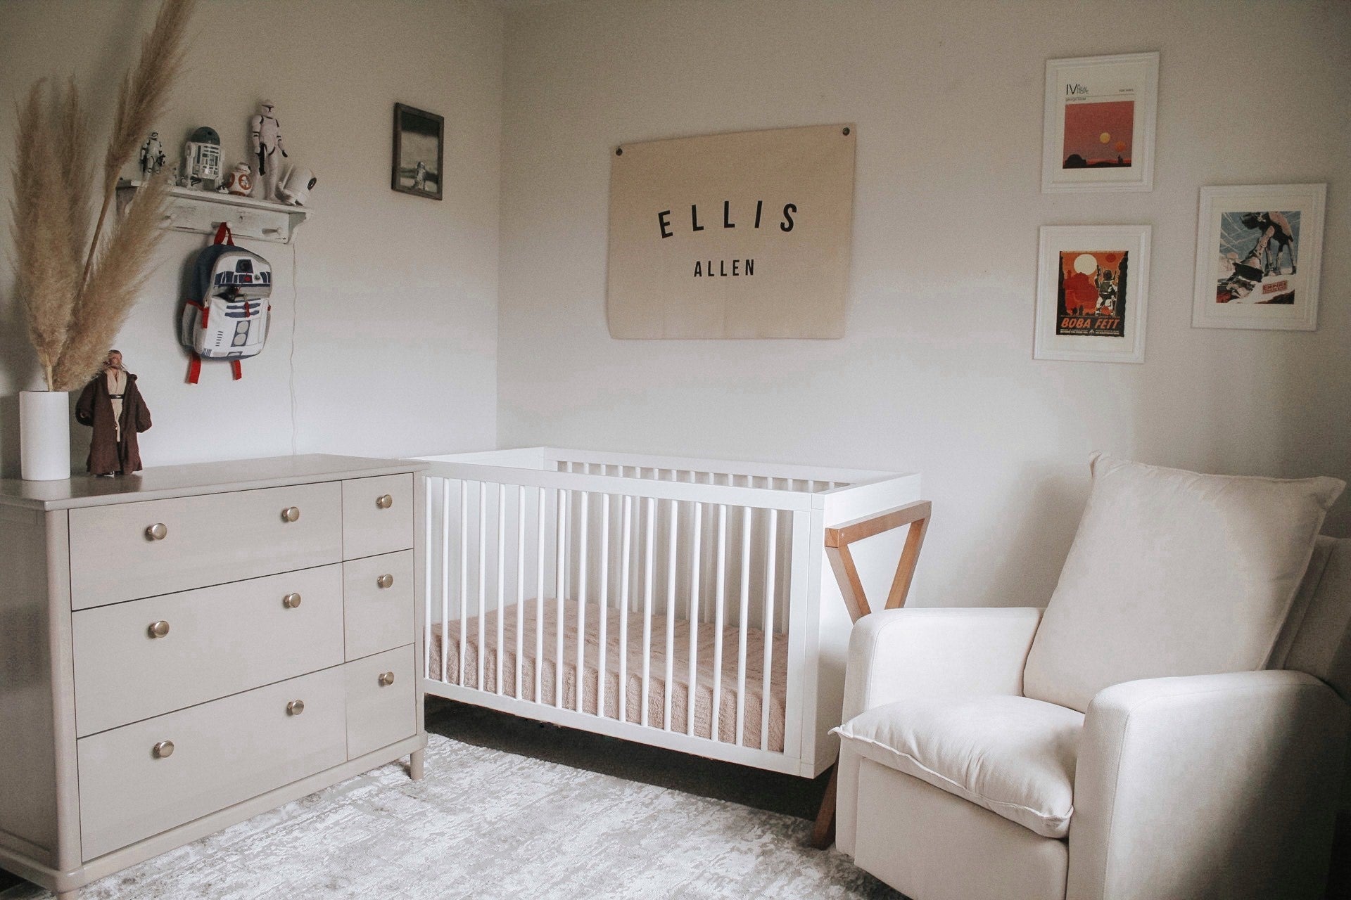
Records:
{"label": "wide top-row drawer of the beige dresser, two round knobs", "polygon": [[338,482],[70,510],[77,610],[340,559]]}

